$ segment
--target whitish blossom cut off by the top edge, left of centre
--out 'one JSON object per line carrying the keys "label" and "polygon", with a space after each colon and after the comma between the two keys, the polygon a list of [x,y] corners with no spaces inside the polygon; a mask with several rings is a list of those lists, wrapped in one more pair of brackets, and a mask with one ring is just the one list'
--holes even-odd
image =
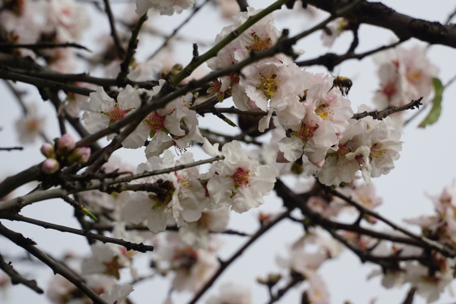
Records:
{"label": "whitish blossom cut off by the top edge, left of centre", "polygon": [[160,15],[171,16],[183,10],[193,8],[194,0],[136,0],[136,14],[142,16],[151,8],[157,9]]}

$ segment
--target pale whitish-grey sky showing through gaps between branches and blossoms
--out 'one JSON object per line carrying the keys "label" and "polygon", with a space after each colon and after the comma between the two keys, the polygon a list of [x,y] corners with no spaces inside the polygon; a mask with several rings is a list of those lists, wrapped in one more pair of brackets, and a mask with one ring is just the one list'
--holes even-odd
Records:
{"label": "pale whitish-grey sky showing through gaps between branches and blossoms", "polygon": [[[266,7],[271,1],[250,0],[248,2],[255,9]],[[436,0],[430,4],[429,1],[383,1],[384,4],[394,8],[399,13],[422,18],[430,21],[446,20],[447,15],[454,10],[456,3],[450,0]],[[113,4],[118,16],[123,13],[123,5]],[[91,8],[91,15],[93,9]],[[161,30],[171,32],[174,27],[183,20],[186,14],[174,17],[162,17],[155,24],[161,25]],[[303,17],[305,16],[305,17]],[[324,18],[326,15],[320,14],[317,18]],[[103,18],[105,16],[103,15]],[[93,27],[90,34],[86,35],[86,41],[96,41],[100,34],[109,33],[107,19],[98,18],[92,19]],[[154,17],[155,18],[155,17]],[[279,30],[289,28],[291,34],[310,28],[316,24],[318,20],[306,20],[307,15],[292,14],[286,16],[284,12],[279,12],[276,19],[276,26]],[[152,19],[152,18],[150,18]],[[186,45],[177,48],[175,56],[182,58],[181,63],[186,64],[192,56],[192,38],[199,41],[213,42],[215,35],[220,32],[221,28],[228,25],[229,22],[219,18],[218,14],[213,13],[211,6],[205,7],[200,11],[195,19],[180,32],[180,35],[187,37],[190,41]],[[394,34],[388,30],[379,29],[369,25],[361,25],[360,27],[360,45],[357,52],[373,49],[375,47],[389,44],[394,37]],[[319,39],[320,32],[317,32],[306,40],[299,43],[299,47],[306,51],[302,59],[310,59],[326,53],[326,49],[321,46]],[[331,52],[344,53],[351,43],[352,34],[344,33],[343,36],[331,48]],[[146,39],[152,41],[151,36],[143,36],[140,42],[140,50],[138,51],[138,61],[144,56],[150,54],[151,50],[155,49],[155,45],[159,44],[160,39],[154,37],[155,44],[145,46]],[[83,43],[84,44],[84,43]],[[411,47],[421,42],[412,40],[404,44],[406,47]],[[89,45],[89,43],[87,43]],[[200,54],[204,52],[204,48],[200,47]],[[440,68],[439,77],[442,83],[445,84],[456,74],[456,64],[454,49],[443,46],[432,46],[428,55],[430,60]],[[301,60],[301,58],[299,58]],[[313,71],[325,71],[324,68],[312,67]],[[362,103],[370,103],[373,92],[377,88],[377,78],[374,74],[375,66],[370,58],[362,61],[350,60],[340,66],[340,75],[351,77],[354,84],[349,94],[349,99],[353,103],[353,109]],[[22,86],[26,88],[26,86]],[[36,91],[36,90],[34,90]],[[3,110],[0,111],[0,125],[3,128],[0,132],[1,146],[19,145],[14,131],[14,121],[21,117],[20,107],[11,96],[6,86],[0,84],[0,92],[3,97]],[[417,217],[422,214],[432,214],[433,207],[431,201],[424,196],[424,193],[439,195],[445,185],[450,184],[456,177],[456,161],[454,158],[454,113],[456,113],[456,104],[454,103],[454,95],[456,89],[448,88],[443,95],[443,110],[442,115],[437,124],[427,127],[426,129],[418,129],[416,125],[424,118],[422,114],[409,126],[407,126],[402,134],[403,140],[401,158],[396,161],[396,168],[388,175],[376,178],[373,180],[377,194],[382,196],[384,203],[378,207],[377,211],[382,215],[389,217],[396,223],[402,223],[403,218]],[[41,109],[47,113],[48,120],[47,132],[50,138],[59,135],[56,120],[54,120],[54,110],[48,102],[43,104],[37,94],[29,95],[25,98],[27,101],[43,105]],[[222,106],[225,106],[224,104]],[[427,111],[426,111],[427,112]],[[229,129],[226,124],[221,124],[218,119],[214,119],[211,115],[206,115],[200,120],[203,126],[213,126],[217,124],[223,130]],[[11,175],[31,165],[44,160],[39,152],[40,143],[26,146],[24,151],[0,151],[0,173]],[[144,162],[145,158],[142,151],[127,151],[122,155],[125,159],[134,160],[131,162],[137,165]],[[198,158],[198,157],[197,157]],[[23,191],[29,191],[29,187]],[[267,199],[267,202],[259,209],[251,210],[250,212],[238,215],[232,213],[230,226],[240,231],[254,232],[257,229],[257,224],[254,218],[260,210],[271,211],[279,210],[282,205],[281,201],[274,199],[274,195]],[[41,220],[50,221],[58,224],[65,224],[73,227],[79,227],[75,220],[72,219],[72,210],[66,203],[61,201],[47,201],[36,203],[32,206],[24,208],[23,215],[35,217]],[[15,229],[35,240],[39,247],[54,256],[61,256],[63,251],[71,250],[74,254],[83,254],[88,252],[88,246],[83,237],[64,234],[51,230],[44,230],[41,227],[35,227],[29,224],[20,224],[2,220],[11,229]],[[415,230],[416,231],[416,230]],[[255,282],[259,276],[264,277],[271,271],[277,271],[278,267],[275,262],[277,253],[286,256],[286,244],[296,240],[302,229],[297,224],[292,224],[289,221],[284,221],[274,227],[274,229],[260,240],[254,243],[237,262],[232,264],[218,280],[207,294],[218,293],[218,286],[224,282],[235,282],[251,287],[253,303],[264,303],[268,301],[267,289]],[[226,258],[236,251],[246,239],[236,236],[223,237],[223,248],[221,257]],[[0,238],[0,252],[8,257],[23,256],[23,250],[19,249],[8,240]],[[144,258],[145,259],[145,258]],[[8,259],[7,259],[8,260]],[[14,263],[14,267],[28,278],[35,278],[42,288],[47,288],[47,282],[52,276],[52,271],[47,267],[36,267],[31,263]],[[146,263],[144,263],[144,267]],[[366,275],[373,267],[368,265],[360,265],[359,259],[350,252],[345,252],[339,258],[326,262],[320,270],[324,280],[328,284],[328,289],[331,293],[331,303],[343,303],[345,300],[350,300],[355,304],[368,303],[372,298],[376,298],[377,304],[400,303],[405,296],[409,286],[402,289],[387,290],[379,284],[379,279],[366,281]],[[140,270],[141,272],[141,270]],[[135,286],[135,291],[132,298],[135,303],[161,303],[169,290],[169,280],[154,279]],[[454,284],[453,284],[454,285]],[[290,291],[281,301],[281,303],[298,303],[301,288]],[[175,293],[174,303],[185,303],[191,298],[188,293]],[[48,303],[45,296],[37,295],[28,288],[17,285],[9,289],[7,298],[2,298],[0,295],[0,303],[28,303],[34,304]],[[204,300],[200,300],[201,303]],[[424,303],[425,301],[419,296],[415,296],[414,303]],[[436,303],[454,302],[454,298],[450,297],[446,292]]]}

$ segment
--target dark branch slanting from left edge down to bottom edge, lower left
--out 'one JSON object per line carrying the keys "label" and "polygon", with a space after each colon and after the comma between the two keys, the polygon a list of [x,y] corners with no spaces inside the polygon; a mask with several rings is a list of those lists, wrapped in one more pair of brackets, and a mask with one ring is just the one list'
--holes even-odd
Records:
{"label": "dark branch slanting from left edge down to bottom edge, lower left", "polygon": [[98,294],[96,294],[84,280],[75,275],[71,270],[66,268],[60,262],[54,260],[49,255],[38,249],[35,245],[36,243],[32,240],[25,238],[22,234],[9,230],[2,223],[0,223],[0,234],[18,245],[19,247],[24,248],[26,251],[30,252],[37,259],[41,260],[43,263],[48,265],[50,269],[56,274],[60,274],[62,277],[73,283],[74,286],[81,289],[95,304],[108,304],[104,301]]}

